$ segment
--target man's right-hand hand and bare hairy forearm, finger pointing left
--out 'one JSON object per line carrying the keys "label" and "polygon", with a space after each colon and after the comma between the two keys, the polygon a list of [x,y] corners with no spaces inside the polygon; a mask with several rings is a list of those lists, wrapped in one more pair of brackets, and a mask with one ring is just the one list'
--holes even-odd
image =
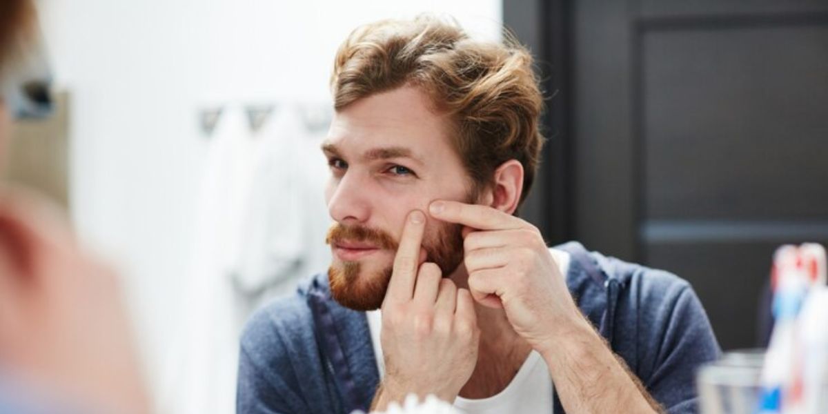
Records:
{"label": "man's right-hand hand and bare hairy forearm, finger pointing left", "polygon": [[[567,412],[659,412],[638,378],[580,314],[541,233],[484,205],[431,203],[431,216],[464,224],[469,290],[503,307],[509,323],[542,354]],[[596,396],[595,389],[602,389]]]}

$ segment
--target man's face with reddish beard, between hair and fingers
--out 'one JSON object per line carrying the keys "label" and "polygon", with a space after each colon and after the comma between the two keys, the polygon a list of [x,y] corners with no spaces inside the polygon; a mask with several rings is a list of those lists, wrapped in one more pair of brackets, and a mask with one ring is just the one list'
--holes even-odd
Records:
{"label": "man's face with reddish beard, between hair and fingers", "polygon": [[[325,200],[336,222],[327,240],[328,274],[343,306],[382,305],[409,212],[426,212],[438,199],[473,201],[447,125],[412,87],[359,99],[336,113],[322,147],[331,171]],[[427,219],[421,259],[436,262],[444,276],[454,272],[463,260],[460,231]]]}

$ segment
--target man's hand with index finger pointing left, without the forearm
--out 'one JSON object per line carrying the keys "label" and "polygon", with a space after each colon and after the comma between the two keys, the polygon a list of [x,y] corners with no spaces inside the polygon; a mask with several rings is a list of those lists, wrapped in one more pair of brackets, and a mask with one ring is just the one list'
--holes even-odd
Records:
{"label": "man's hand with index finger pointing left, without the forearm", "polygon": [[503,307],[509,322],[544,354],[567,327],[585,324],[541,233],[532,224],[484,205],[431,203],[431,216],[464,224],[469,290],[484,306]]}

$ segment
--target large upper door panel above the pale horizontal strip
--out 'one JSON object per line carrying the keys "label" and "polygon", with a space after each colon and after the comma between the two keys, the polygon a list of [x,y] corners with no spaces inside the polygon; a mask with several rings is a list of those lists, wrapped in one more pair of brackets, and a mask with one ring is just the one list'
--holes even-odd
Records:
{"label": "large upper door panel above the pale horizontal strip", "polygon": [[647,30],[647,219],[819,219],[828,26]]}

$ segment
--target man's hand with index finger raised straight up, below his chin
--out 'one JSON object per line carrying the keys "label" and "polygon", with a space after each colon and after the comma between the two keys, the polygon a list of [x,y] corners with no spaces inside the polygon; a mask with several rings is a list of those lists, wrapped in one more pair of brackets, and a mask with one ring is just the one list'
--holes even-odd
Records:
{"label": "man's hand with index finger raised straight up, below his chin", "polygon": [[477,363],[479,329],[469,291],[420,263],[426,216],[408,214],[383,301],[386,375],[373,407],[402,402],[408,393],[453,402]]}

